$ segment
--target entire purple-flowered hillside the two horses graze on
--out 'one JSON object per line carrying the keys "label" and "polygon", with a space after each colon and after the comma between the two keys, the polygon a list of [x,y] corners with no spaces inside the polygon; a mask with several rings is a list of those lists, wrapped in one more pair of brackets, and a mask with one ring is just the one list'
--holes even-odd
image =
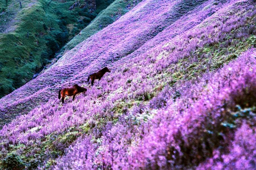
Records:
{"label": "entire purple-flowered hillside the two horses graze on", "polygon": [[[143,0],[102,30],[83,29],[0,99],[0,167],[254,169],[255,8]],[[111,72],[90,86],[104,66]],[[58,90],[75,83],[87,92],[61,104]]]}

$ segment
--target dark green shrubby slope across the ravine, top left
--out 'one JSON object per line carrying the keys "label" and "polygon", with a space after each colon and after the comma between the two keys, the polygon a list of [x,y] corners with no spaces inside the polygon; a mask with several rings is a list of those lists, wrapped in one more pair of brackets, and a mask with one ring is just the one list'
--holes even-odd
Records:
{"label": "dark green shrubby slope across the ravine, top left", "polygon": [[113,1],[82,1],[69,10],[75,0],[1,0],[0,97],[31,80],[69,39]]}

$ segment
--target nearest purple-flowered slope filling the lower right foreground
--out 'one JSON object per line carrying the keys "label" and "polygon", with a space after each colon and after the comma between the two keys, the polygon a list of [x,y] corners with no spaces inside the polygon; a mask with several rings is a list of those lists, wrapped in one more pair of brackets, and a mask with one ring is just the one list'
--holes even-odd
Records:
{"label": "nearest purple-flowered slope filling the lower right foreground", "polygon": [[254,48],[215,74],[165,88],[149,105],[124,108],[118,120],[111,111],[91,112],[97,128],[90,118],[89,132],[75,127],[73,134],[89,135],[53,169],[254,169],[255,54]]}

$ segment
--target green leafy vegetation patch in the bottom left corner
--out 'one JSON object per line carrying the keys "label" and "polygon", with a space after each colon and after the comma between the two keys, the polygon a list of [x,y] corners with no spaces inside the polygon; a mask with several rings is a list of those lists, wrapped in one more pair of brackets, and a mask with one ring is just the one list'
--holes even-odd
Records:
{"label": "green leafy vegetation patch in the bottom left corner", "polygon": [[[79,127],[71,127],[61,134],[51,133],[46,135],[42,145],[35,144],[29,147],[23,144],[10,145],[9,150],[11,152],[0,161],[0,169],[24,169],[25,167],[36,169],[50,155],[51,157],[48,158],[49,160],[46,163],[46,168],[49,168],[55,163],[55,158],[64,154],[65,148],[81,135],[88,133],[89,130],[90,125],[85,123]],[[36,154],[31,155],[32,151],[36,151]],[[2,153],[0,152],[0,154]]]}

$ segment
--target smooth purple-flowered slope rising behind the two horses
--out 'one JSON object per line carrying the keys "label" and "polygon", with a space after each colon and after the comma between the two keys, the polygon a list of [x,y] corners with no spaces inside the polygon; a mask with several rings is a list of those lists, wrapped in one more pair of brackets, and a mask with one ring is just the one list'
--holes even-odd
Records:
{"label": "smooth purple-flowered slope rising behind the two horses", "polygon": [[0,99],[3,103],[0,106],[1,124],[9,122],[20,113],[29,112],[49,98],[55,98],[61,86],[84,82],[88,74],[133,53],[202,3],[203,1],[139,3],[115,23],[66,52],[40,76]]}

